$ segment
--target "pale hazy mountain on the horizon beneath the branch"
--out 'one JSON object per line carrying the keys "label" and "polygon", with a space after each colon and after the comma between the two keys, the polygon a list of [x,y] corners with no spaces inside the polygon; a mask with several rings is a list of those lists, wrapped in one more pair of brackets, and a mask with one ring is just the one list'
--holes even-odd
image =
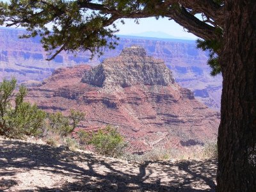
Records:
{"label": "pale hazy mountain on the horizon beneath the branch", "polygon": [[195,40],[195,38],[188,38],[185,36],[173,36],[162,31],[145,31],[142,33],[131,33],[127,36],[141,36],[141,37],[153,37],[153,38],[170,38],[170,39],[182,39],[182,40]]}

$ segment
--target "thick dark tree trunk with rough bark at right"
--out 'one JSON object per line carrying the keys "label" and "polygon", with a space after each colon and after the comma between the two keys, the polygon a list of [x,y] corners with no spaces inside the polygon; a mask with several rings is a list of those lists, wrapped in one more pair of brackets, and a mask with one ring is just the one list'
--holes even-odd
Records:
{"label": "thick dark tree trunk with rough bark at right", "polygon": [[225,1],[217,191],[256,191],[256,2]]}

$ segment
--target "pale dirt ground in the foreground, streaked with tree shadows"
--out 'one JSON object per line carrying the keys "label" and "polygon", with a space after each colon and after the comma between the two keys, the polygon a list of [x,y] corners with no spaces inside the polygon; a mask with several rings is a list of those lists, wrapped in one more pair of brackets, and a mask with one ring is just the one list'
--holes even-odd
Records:
{"label": "pale dirt ground in the foreground, streaked with tree shadows", "polygon": [[216,160],[133,163],[0,138],[0,191],[215,191]]}

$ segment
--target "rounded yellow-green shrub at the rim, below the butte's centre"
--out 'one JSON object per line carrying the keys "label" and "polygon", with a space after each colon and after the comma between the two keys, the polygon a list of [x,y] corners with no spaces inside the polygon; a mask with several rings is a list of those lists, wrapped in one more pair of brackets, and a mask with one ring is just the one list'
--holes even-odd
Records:
{"label": "rounded yellow-green shrub at the rim, below the butte's centre", "polygon": [[124,137],[110,125],[92,134],[88,143],[92,144],[99,154],[109,157],[122,156],[125,147],[127,147]]}

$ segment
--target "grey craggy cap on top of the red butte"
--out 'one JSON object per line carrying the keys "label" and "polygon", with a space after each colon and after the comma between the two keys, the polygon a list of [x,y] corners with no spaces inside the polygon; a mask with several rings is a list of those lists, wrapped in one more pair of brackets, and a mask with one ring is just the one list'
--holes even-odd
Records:
{"label": "grey craggy cap on top of the red butte", "polygon": [[168,86],[174,79],[163,61],[146,56],[143,47],[134,45],[125,48],[120,56],[107,59],[86,72],[82,82],[106,88],[125,88],[136,84]]}

